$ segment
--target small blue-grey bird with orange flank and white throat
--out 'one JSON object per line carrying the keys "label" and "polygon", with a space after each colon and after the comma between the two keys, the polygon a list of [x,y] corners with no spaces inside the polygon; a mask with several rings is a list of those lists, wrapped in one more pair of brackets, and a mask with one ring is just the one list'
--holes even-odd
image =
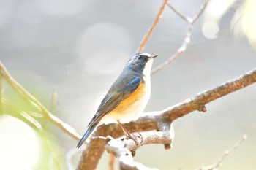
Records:
{"label": "small blue-grey bird with orange flank and white throat", "polygon": [[132,120],[132,117],[143,112],[148,104],[151,94],[151,67],[156,57],[157,55],[148,53],[137,53],[132,56],[103,98],[77,148],[83,145],[102,118],[116,120],[124,134],[132,138],[121,123]]}

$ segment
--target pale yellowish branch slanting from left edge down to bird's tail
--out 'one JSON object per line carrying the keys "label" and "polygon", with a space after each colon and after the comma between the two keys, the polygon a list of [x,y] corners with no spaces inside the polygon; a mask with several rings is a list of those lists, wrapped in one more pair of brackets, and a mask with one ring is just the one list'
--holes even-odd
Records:
{"label": "pale yellowish branch slanting from left edge down to bird's tail", "polygon": [[[22,87],[15,79],[12,78],[10,73],[7,71],[7,69],[4,67],[4,65],[0,61],[0,74],[2,80],[7,81],[14,90],[17,91],[23,98],[26,99],[26,101],[29,101],[29,104],[31,104],[32,107],[36,108],[38,112],[40,112],[43,117],[50,120],[53,124],[61,128],[62,131],[69,134],[69,136],[72,136],[72,138],[76,140],[80,140],[80,135],[75,131],[74,128],[72,128],[67,123],[64,123],[62,120],[60,120],[58,117],[52,115],[48,109],[44,105],[42,105],[37,98],[34,98],[25,88]],[[2,103],[1,98],[1,103]],[[30,120],[29,120],[30,121]]]}

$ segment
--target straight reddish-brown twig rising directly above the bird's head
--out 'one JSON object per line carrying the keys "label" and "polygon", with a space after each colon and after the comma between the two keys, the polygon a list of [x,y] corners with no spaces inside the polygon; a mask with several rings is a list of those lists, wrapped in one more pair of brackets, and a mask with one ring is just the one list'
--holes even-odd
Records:
{"label": "straight reddish-brown twig rising directly above the bird's head", "polygon": [[165,0],[165,1],[162,3],[162,6],[160,7],[159,12],[157,13],[157,17],[156,17],[155,20],[154,20],[154,23],[152,23],[152,25],[151,25],[151,27],[149,28],[148,32],[147,32],[146,35],[143,37],[143,40],[140,42],[140,47],[139,47],[138,50],[137,50],[138,52],[141,52],[141,51],[144,50],[144,47],[145,47],[146,43],[148,42],[148,39],[150,38],[152,32],[154,31],[154,28],[156,28],[157,23],[159,23],[159,20],[161,19],[162,12],[164,11],[166,4],[167,4],[167,0]]}

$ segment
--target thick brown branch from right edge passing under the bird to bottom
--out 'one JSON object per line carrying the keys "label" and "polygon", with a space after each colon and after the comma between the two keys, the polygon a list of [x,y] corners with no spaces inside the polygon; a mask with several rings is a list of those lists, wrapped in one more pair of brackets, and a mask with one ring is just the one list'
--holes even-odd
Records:
{"label": "thick brown branch from right edge passing under the bird to bottom", "polygon": [[[256,68],[246,74],[237,77],[236,79],[227,81],[222,85],[219,85],[210,90],[206,90],[203,93],[197,94],[197,96],[188,98],[181,103],[168,107],[158,112],[148,112],[144,116],[141,116],[135,122],[125,124],[125,128],[129,132],[140,131],[164,131],[162,123],[172,123],[178,117],[189,114],[193,111],[206,112],[206,104],[214,101],[229,93],[233,93],[236,90],[245,88],[248,85],[256,82]],[[121,128],[117,124],[101,125],[97,128],[92,136],[112,136],[117,138],[123,135]],[[170,147],[169,144],[165,144],[165,148]],[[97,149],[96,151],[94,151]],[[96,168],[99,158],[105,150],[105,142],[99,140],[99,138],[91,139],[91,142],[86,145],[86,151],[80,159],[79,170],[86,169],[91,170],[91,164],[94,164],[93,169]]]}

